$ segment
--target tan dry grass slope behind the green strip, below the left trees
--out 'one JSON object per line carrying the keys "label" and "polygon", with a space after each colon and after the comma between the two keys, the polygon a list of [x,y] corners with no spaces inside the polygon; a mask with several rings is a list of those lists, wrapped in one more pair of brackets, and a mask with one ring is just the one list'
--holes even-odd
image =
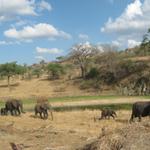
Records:
{"label": "tan dry grass slope behind the green strip, below the left trees", "polygon": [[12,80],[11,89],[7,87],[6,80],[0,80],[0,97],[12,96],[17,98],[29,98],[34,96],[61,97],[73,95],[90,95],[80,90],[71,81],[45,79]]}

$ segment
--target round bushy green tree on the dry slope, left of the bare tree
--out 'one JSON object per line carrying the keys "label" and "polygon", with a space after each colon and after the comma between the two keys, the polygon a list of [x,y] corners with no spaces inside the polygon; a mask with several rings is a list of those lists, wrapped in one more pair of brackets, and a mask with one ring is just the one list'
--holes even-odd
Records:
{"label": "round bushy green tree on the dry slope, left of the bare tree", "polygon": [[60,75],[64,74],[64,67],[58,63],[50,63],[47,65],[49,78],[59,79]]}

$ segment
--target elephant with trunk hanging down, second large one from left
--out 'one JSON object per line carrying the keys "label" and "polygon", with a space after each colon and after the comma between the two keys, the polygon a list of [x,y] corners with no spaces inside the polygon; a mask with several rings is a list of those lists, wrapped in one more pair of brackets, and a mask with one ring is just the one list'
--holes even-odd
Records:
{"label": "elephant with trunk hanging down, second large one from left", "polygon": [[[47,119],[48,118],[48,110],[51,110],[51,105],[49,105],[48,103],[37,103],[34,108],[35,116],[37,116],[37,114],[40,114],[41,119]],[[51,117],[53,120],[52,111],[51,111]]]}

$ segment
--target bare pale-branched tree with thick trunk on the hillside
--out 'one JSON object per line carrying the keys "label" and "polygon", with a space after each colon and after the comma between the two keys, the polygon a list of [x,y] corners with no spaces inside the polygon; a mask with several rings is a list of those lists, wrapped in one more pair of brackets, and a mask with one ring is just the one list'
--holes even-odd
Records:
{"label": "bare pale-branched tree with thick trunk on the hillside", "polygon": [[79,66],[82,78],[85,78],[90,60],[97,53],[97,47],[89,43],[76,44],[71,48],[69,59],[72,60],[75,65]]}

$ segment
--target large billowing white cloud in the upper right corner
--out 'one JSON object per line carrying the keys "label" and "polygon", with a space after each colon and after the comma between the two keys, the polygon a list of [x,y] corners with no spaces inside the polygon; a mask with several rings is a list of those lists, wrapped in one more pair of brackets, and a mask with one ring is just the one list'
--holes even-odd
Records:
{"label": "large billowing white cloud in the upper right corner", "polygon": [[[101,32],[115,34],[118,42],[127,45],[128,39],[141,41],[150,27],[150,0],[135,0],[116,19],[109,18]],[[130,44],[129,44],[130,45]]]}

